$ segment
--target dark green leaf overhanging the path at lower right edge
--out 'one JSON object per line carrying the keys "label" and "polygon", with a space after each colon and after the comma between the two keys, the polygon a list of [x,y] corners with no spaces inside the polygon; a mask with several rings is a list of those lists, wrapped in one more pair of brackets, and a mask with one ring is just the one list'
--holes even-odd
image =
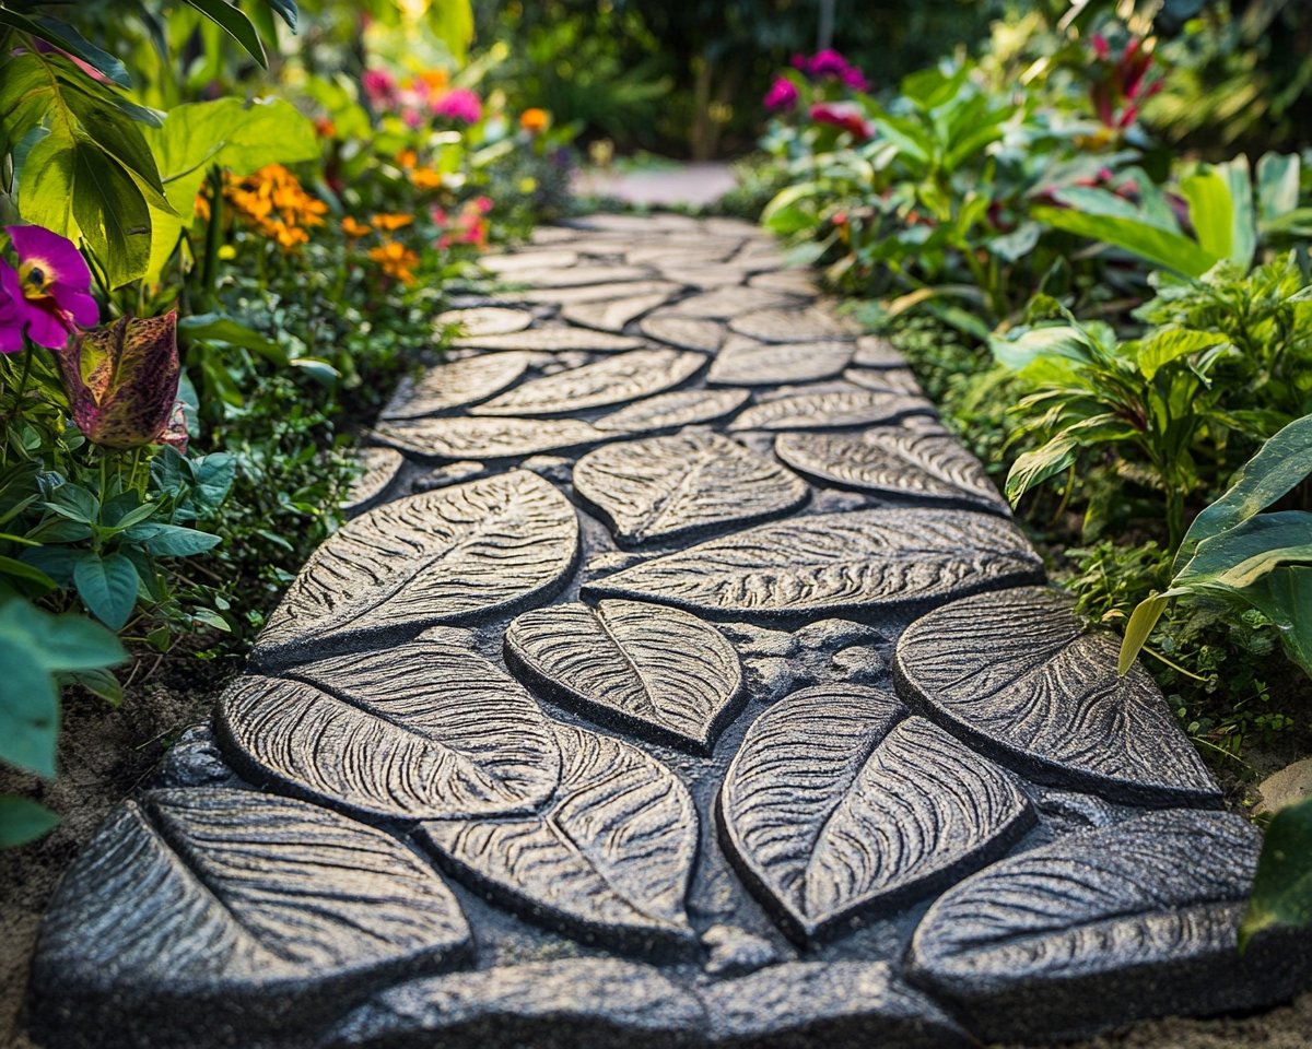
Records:
{"label": "dark green leaf overhanging the path at lower right edge", "polygon": [[1312,926],[1312,797],[1279,809],[1266,829],[1240,947],[1277,926]]}

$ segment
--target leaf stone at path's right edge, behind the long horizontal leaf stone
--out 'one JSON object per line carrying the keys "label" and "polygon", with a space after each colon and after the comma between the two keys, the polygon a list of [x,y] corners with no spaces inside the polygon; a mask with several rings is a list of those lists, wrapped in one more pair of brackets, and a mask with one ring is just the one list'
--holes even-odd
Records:
{"label": "leaf stone at path's right edge, behind the long horizontal leaf stone", "polygon": [[774,454],[824,484],[1008,513],[979,459],[945,433],[878,426],[861,434],[779,434]]}

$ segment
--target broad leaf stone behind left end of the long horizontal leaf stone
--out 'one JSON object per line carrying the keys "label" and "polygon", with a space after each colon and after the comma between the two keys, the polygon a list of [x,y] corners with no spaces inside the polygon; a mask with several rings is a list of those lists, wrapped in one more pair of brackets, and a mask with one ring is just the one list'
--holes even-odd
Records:
{"label": "broad leaf stone behind left end of the long horizontal leaf stone", "polygon": [[579,460],[573,483],[625,544],[778,517],[808,494],[778,463],[719,434],[609,445]]}

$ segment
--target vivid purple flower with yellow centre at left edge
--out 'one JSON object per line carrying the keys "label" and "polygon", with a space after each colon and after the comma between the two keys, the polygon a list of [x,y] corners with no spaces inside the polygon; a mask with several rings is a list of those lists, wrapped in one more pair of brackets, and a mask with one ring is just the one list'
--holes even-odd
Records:
{"label": "vivid purple flower with yellow centre at left edge", "polygon": [[58,350],[77,327],[100,321],[91,296],[91,270],[73,247],[39,226],[10,226],[5,232],[18,253],[18,269],[0,260],[0,351],[22,347],[22,334]]}

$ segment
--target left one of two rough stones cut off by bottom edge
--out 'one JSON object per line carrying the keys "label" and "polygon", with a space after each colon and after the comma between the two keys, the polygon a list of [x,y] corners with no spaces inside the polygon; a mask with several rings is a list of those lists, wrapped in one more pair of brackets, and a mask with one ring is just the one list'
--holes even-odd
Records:
{"label": "left one of two rough stones cut off by bottom edge", "polygon": [[403,983],[352,1012],[324,1049],[676,1049],[701,1002],[647,965],[577,959]]}

